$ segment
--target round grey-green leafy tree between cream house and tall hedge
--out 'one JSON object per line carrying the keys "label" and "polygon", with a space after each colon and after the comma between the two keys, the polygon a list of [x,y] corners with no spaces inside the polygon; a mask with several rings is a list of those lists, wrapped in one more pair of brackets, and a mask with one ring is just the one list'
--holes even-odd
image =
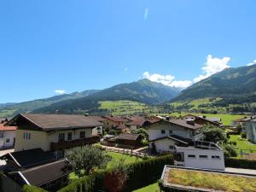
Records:
{"label": "round grey-green leafy tree between cream house and tall hedge", "polygon": [[105,168],[112,157],[101,148],[85,145],[67,151],[67,160],[73,166],[73,171],[79,177],[88,175],[95,168]]}

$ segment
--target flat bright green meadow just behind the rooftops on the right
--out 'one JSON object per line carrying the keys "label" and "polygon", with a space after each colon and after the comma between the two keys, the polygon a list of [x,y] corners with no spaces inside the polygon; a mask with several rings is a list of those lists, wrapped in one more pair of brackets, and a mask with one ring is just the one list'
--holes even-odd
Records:
{"label": "flat bright green meadow just behind the rooftops on the right", "polygon": [[[181,112],[181,113],[171,113],[170,115],[177,116],[179,117],[180,115],[184,116],[186,114],[189,114],[187,112]],[[233,120],[243,118],[244,115],[235,115],[235,114],[224,114],[224,113],[219,113],[219,114],[211,114],[211,113],[192,113],[195,115],[199,116],[207,116],[207,117],[220,117],[222,119],[222,122],[224,125],[230,125]]]}

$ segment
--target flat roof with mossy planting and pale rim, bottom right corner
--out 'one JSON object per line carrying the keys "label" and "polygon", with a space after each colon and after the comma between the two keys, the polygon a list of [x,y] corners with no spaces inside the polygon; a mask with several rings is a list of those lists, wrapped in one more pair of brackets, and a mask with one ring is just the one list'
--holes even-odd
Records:
{"label": "flat roof with mossy planting and pale rim, bottom right corner", "polygon": [[166,166],[162,188],[175,191],[256,191],[256,177],[248,174]]}

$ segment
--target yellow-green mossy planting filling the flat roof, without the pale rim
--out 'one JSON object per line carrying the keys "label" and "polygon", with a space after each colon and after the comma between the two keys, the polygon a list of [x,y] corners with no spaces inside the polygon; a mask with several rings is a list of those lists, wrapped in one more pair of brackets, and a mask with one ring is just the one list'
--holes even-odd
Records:
{"label": "yellow-green mossy planting filling the flat roof, without the pale rim", "polygon": [[169,172],[168,183],[228,192],[256,191],[256,179],[254,177],[178,169],[172,169]]}

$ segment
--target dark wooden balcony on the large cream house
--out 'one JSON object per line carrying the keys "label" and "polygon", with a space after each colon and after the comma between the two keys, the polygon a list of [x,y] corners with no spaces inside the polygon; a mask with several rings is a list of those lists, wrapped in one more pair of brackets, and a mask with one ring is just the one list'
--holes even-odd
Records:
{"label": "dark wooden balcony on the large cream house", "polygon": [[50,150],[56,151],[56,150],[62,150],[67,148],[75,148],[87,144],[93,144],[100,142],[100,137],[93,136],[93,137],[87,137],[83,139],[76,139],[72,141],[64,141],[64,142],[58,142],[58,143],[50,143]]}

